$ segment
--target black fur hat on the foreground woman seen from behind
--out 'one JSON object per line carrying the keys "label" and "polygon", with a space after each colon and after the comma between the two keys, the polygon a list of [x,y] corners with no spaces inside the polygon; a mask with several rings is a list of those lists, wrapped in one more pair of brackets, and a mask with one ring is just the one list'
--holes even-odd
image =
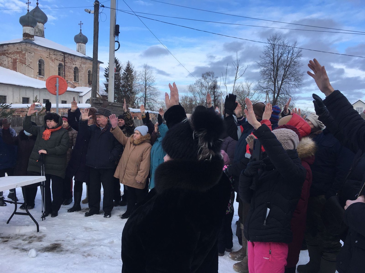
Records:
{"label": "black fur hat on the foreground woman seen from behind", "polygon": [[162,148],[170,158],[211,160],[220,155],[223,120],[215,112],[198,107],[189,119],[176,124],[166,133]]}

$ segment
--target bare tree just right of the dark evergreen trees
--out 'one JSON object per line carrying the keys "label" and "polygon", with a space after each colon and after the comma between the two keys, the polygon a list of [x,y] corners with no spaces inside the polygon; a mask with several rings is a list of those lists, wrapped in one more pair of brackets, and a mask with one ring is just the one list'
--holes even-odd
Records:
{"label": "bare tree just right of the dark evergreen trees", "polygon": [[156,109],[158,107],[158,90],[155,87],[155,76],[151,67],[147,64],[143,65],[142,71],[138,73],[138,101],[142,103],[146,109]]}

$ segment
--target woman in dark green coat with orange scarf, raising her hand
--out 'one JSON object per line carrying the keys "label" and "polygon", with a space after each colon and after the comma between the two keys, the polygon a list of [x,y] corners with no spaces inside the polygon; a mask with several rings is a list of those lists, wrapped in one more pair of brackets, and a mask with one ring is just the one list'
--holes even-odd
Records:
{"label": "woman in dark green coat with orange scarf, raising her hand", "polygon": [[[31,116],[37,112],[34,107],[33,103],[23,121],[23,129],[37,136],[29,158],[28,171],[39,175],[41,162],[38,159],[43,156],[46,175],[45,216],[51,213],[51,217],[56,217],[62,204],[62,183],[65,178],[66,153],[70,138],[68,131],[62,128],[62,118],[56,113],[47,113],[44,117],[44,125],[32,125]],[[51,200],[51,180],[53,201]]]}

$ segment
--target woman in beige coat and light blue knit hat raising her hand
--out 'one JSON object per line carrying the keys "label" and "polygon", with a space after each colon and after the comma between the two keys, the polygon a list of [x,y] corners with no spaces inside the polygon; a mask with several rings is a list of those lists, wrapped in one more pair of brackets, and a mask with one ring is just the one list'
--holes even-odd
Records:
{"label": "woman in beige coat and light blue knit hat raising her hand", "polygon": [[129,138],[118,127],[115,114],[109,116],[114,137],[124,146],[122,158],[119,160],[114,177],[128,187],[127,211],[120,217],[129,217],[136,203],[141,202],[148,193],[147,176],[150,171],[151,135],[148,127],[138,126]]}

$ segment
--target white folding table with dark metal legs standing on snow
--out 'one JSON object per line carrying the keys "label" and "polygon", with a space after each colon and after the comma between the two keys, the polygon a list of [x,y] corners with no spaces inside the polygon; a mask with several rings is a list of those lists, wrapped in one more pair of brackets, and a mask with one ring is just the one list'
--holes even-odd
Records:
{"label": "white folding table with dark metal legs standing on snow", "polygon": [[[5,176],[5,177],[0,177],[0,191],[15,189],[15,188],[18,188],[18,187],[31,185],[31,184],[42,182],[42,181],[45,181],[45,180],[46,180],[45,176]],[[10,200],[4,199],[4,201],[7,202],[7,203],[15,204],[14,212],[11,214],[9,220],[6,223],[7,224],[9,223],[9,221],[14,216],[14,214],[28,215],[30,218],[32,218],[32,220],[37,225],[37,232],[39,232],[39,225],[38,225],[37,221],[35,221],[34,217],[28,211],[26,194],[24,193],[24,188],[22,188],[22,190],[23,190],[24,203],[16,201],[16,192],[15,191],[14,191],[14,200],[15,201],[10,201]],[[26,212],[16,211],[16,209],[18,207],[17,206],[18,204],[24,204],[24,208],[25,208]]]}

